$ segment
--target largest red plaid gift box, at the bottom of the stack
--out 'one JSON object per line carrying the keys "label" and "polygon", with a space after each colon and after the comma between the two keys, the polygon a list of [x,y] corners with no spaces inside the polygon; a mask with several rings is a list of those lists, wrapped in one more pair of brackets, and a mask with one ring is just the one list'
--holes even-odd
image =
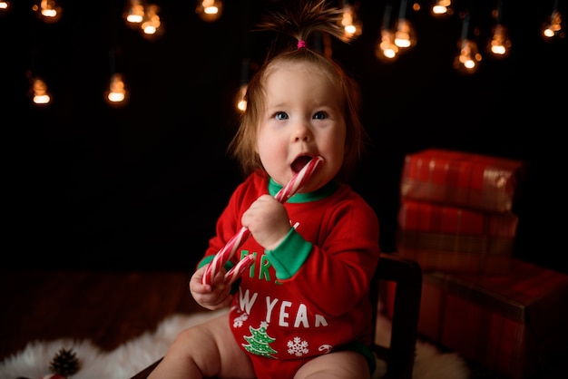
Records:
{"label": "largest red plaid gift box, at the bottom of the stack", "polygon": [[535,378],[568,352],[568,275],[511,261],[499,275],[424,273],[418,332],[504,377]]}

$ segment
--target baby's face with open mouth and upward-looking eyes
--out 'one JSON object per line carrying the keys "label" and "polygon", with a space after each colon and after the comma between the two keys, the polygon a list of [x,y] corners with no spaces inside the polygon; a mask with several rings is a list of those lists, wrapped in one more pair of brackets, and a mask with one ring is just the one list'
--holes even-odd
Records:
{"label": "baby's face with open mouth and upward-looking eyes", "polygon": [[[307,63],[286,63],[269,73],[266,109],[261,113],[257,152],[273,180],[286,185],[305,157],[324,164],[301,192],[318,190],[343,163],[346,125],[337,89]],[[301,158],[304,157],[304,158]]]}

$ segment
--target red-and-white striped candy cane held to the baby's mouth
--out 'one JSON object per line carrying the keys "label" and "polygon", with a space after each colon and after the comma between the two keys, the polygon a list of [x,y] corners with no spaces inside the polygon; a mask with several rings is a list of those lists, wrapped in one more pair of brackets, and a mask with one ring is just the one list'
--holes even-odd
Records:
{"label": "red-and-white striped candy cane held to the baby's mouth", "polygon": [[[322,157],[315,157],[312,160],[309,160],[308,163],[301,170],[299,170],[296,175],[294,175],[294,177],[288,182],[288,184],[286,184],[286,186],[282,187],[282,189],[279,190],[279,192],[274,196],[274,199],[279,200],[279,202],[281,203],[288,201],[288,199],[294,196],[294,194],[298,192],[299,189],[306,185],[309,178],[311,178],[312,174],[316,171],[319,164],[322,162]],[[211,260],[209,266],[205,268],[205,272],[203,273],[202,278],[203,284],[211,285],[211,283],[213,283],[213,278],[220,271],[220,268],[229,261],[233,254],[235,254],[237,249],[242,246],[242,244],[247,240],[247,238],[249,238],[249,236],[249,228],[242,227],[240,228],[239,233],[233,236],[233,238],[230,238],[229,242],[227,242],[227,244],[219,250],[215,257],[213,257],[213,260]],[[247,257],[253,256],[250,255]],[[238,264],[238,267],[233,267],[229,272],[227,272],[227,274],[225,274],[225,281],[230,280],[231,283],[234,282],[237,277],[239,277],[240,274],[242,274],[244,270],[247,269],[247,267],[250,267],[250,265],[252,265],[254,258],[247,257],[245,257],[245,262],[240,265]]]}

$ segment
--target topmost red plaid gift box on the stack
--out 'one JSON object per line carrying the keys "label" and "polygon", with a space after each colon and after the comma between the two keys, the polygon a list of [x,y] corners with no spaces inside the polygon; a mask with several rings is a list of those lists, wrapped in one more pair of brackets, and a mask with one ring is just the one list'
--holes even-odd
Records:
{"label": "topmost red plaid gift box on the stack", "polygon": [[520,160],[427,149],[406,155],[401,198],[489,212],[511,211],[523,178]]}

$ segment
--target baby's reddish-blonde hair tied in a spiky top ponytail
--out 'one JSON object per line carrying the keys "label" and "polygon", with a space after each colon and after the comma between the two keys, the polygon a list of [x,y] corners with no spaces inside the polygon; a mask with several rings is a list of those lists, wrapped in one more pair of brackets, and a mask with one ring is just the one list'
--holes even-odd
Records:
{"label": "baby's reddish-blonde hair tied in a spiky top ponytail", "polygon": [[339,20],[340,11],[337,8],[327,7],[325,0],[319,0],[299,2],[299,7],[288,10],[285,14],[270,14],[259,25],[260,30],[282,32],[294,37],[296,44],[290,45],[267,59],[248,84],[245,95],[247,109],[241,115],[239,129],[229,145],[229,151],[240,162],[241,170],[245,175],[262,168],[259,154],[256,152],[256,143],[260,116],[265,107],[264,83],[269,73],[281,63],[314,65],[337,90],[347,126],[345,156],[341,170],[338,172],[338,179],[346,180],[353,172],[363,151],[363,141],[367,138],[359,119],[361,92],[358,83],[331,58],[304,47],[312,34],[316,32],[331,34],[346,41],[338,24]]}

